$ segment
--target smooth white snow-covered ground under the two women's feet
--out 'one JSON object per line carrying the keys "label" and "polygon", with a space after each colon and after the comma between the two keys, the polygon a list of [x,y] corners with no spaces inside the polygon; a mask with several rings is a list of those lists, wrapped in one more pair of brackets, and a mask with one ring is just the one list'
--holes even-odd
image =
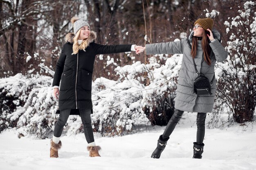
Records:
{"label": "smooth white snow-covered ground under the two women's feet", "polygon": [[49,158],[49,139],[18,138],[13,130],[0,134],[0,170],[255,170],[256,128],[234,125],[206,129],[203,159],[192,159],[195,114],[186,113],[160,159],[150,158],[165,127],[95,141],[101,157],[89,157],[83,134],[63,136],[59,158]]}

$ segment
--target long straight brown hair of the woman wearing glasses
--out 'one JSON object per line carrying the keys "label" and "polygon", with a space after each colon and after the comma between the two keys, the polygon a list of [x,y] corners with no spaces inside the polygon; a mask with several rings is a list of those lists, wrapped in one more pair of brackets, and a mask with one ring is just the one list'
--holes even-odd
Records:
{"label": "long straight brown hair of the woman wearing glasses", "polygon": [[[198,38],[193,36],[192,47],[191,47],[191,55],[193,58],[195,58],[196,56],[197,46],[198,46]],[[202,36],[202,49],[204,52],[204,61],[207,62],[207,64],[210,66],[211,65],[211,59],[210,59],[211,48],[210,48],[208,37],[207,37],[207,31],[205,30]]]}

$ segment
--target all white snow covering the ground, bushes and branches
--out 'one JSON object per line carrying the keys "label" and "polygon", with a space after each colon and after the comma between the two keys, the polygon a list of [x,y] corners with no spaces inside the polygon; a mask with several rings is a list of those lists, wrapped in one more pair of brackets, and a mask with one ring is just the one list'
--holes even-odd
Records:
{"label": "all white snow covering the ground, bushes and branches", "polygon": [[[173,3],[178,4],[179,2],[176,0]],[[250,6],[254,5],[255,2],[245,2],[244,9],[238,11],[238,16],[227,17],[228,21],[224,22],[229,37],[226,49],[231,55],[225,63],[216,64],[215,73],[218,81],[222,79],[224,71],[229,72],[230,75],[236,74],[241,79],[256,67],[255,64],[246,64],[244,68],[239,66],[240,63],[245,63],[246,57],[249,56],[246,53],[240,53],[240,50],[251,51],[250,54],[254,52],[252,49],[256,43],[256,12],[249,20]],[[80,6],[80,9],[82,7]],[[216,10],[209,12],[206,9],[204,11],[207,12],[207,17],[215,18],[219,15]],[[99,22],[99,18],[95,20]],[[45,24],[43,20],[39,22],[39,25]],[[240,29],[245,27],[245,31]],[[41,31],[45,32],[45,29]],[[129,33],[126,29],[121,32],[125,35]],[[250,39],[245,33],[250,33]],[[52,36],[52,33],[46,35]],[[185,37],[187,37],[186,33],[180,33],[180,38]],[[147,35],[144,36],[144,40],[148,41]],[[180,40],[175,39],[174,42],[176,41]],[[247,42],[249,46],[246,45]],[[56,48],[52,52],[56,51],[60,51],[60,49]],[[26,54],[26,62],[31,62],[32,57],[34,57],[33,60],[36,58],[40,60],[38,53],[31,56]],[[128,53],[128,56],[135,60],[132,53]],[[117,66],[114,58],[108,55],[106,59],[107,65]],[[103,60],[103,55],[99,55],[99,60]],[[160,62],[160,60],[164,60],[165,64],[162,65],[163,61]],[[2,109],[0,125],[8,127],[0,134],[0,170],[16,170],[17,168],[19,170],[256,169],[256,130],[253,127],[255,120],[250,123],[246,122],[245,126],[239,126],[229,119],[232,117],[232,113],[225,105],[221,105],[220,108],[223,108],[224,112],[219,112],[217,118],[214,117],[214,114],[209,114],[207,117],[206,124],[209,127],[222,129],[206,129],[202,160],[191,159],[192,144],[196,134],[195,113],[185,113],[171,135],[161,158],[150,158],[157,139],[165,127],[152,126],[144,114],[143,108],[146,107],[152,112],[155,106],[153,102],[156,102],[157,97],[162,97],[165,93],[168,93],[170,100],[175,98],[175,92],[170,92],[170,89],[175,90],[177,85],[177,77],[182,63],[182,55],[179,54],[172,57],[154,55],[148,57],[149,64],[135,60],[131,65],[115,68],[118,80],[100,77],[92,82],[94,106],[94,114],[91,115],[92,127],[94,131],[97,131],[94,134],[95,141],[102,147],[100,152],[102,157],[88,157],[81,119],[79,116],[70,116],[61,138],[63,148],[59,152],[60,158],[50,159],[49,139],[43,138],[52,135],[58,118],[55,114],[57,102],[52,97],[51,85],[54,71],[51,66],[45,66],[45,60],[41,61],[42,63],[38,65],[40,73],[36,72],[35,68],[31,68],[27,71],[27,75],[18,73],[0,79],[0,89],[2,89],[2,93],[6,93],[5,97],[7,97],[2,102],[3,106],[4,104],[7,106],[9,101],[13,107],[15,106],[13,111],[0,108]],[[47,74],[45,75],[45,73]],[[146,81],[149,83],[146,84]],[[248,88],[248,84],[246,86]],[[232,86],[224,89],[227,96],[233,91]],[[235,90],[238,91],[237,88]],[[252,94],[252,91],[249,93]],[[216,106],[219,106],[218,102],[221,101],[216,98]],[[240,109],[242,108],[243,105]],[[4,122],[4,119],[8,121]],[[218,122],[214,122],[216,119]],[[12,126],[13,124],[15,127]],[[19,133],[25,137],[18,139]],[[122,137],[117,137],[117,135]]]}

